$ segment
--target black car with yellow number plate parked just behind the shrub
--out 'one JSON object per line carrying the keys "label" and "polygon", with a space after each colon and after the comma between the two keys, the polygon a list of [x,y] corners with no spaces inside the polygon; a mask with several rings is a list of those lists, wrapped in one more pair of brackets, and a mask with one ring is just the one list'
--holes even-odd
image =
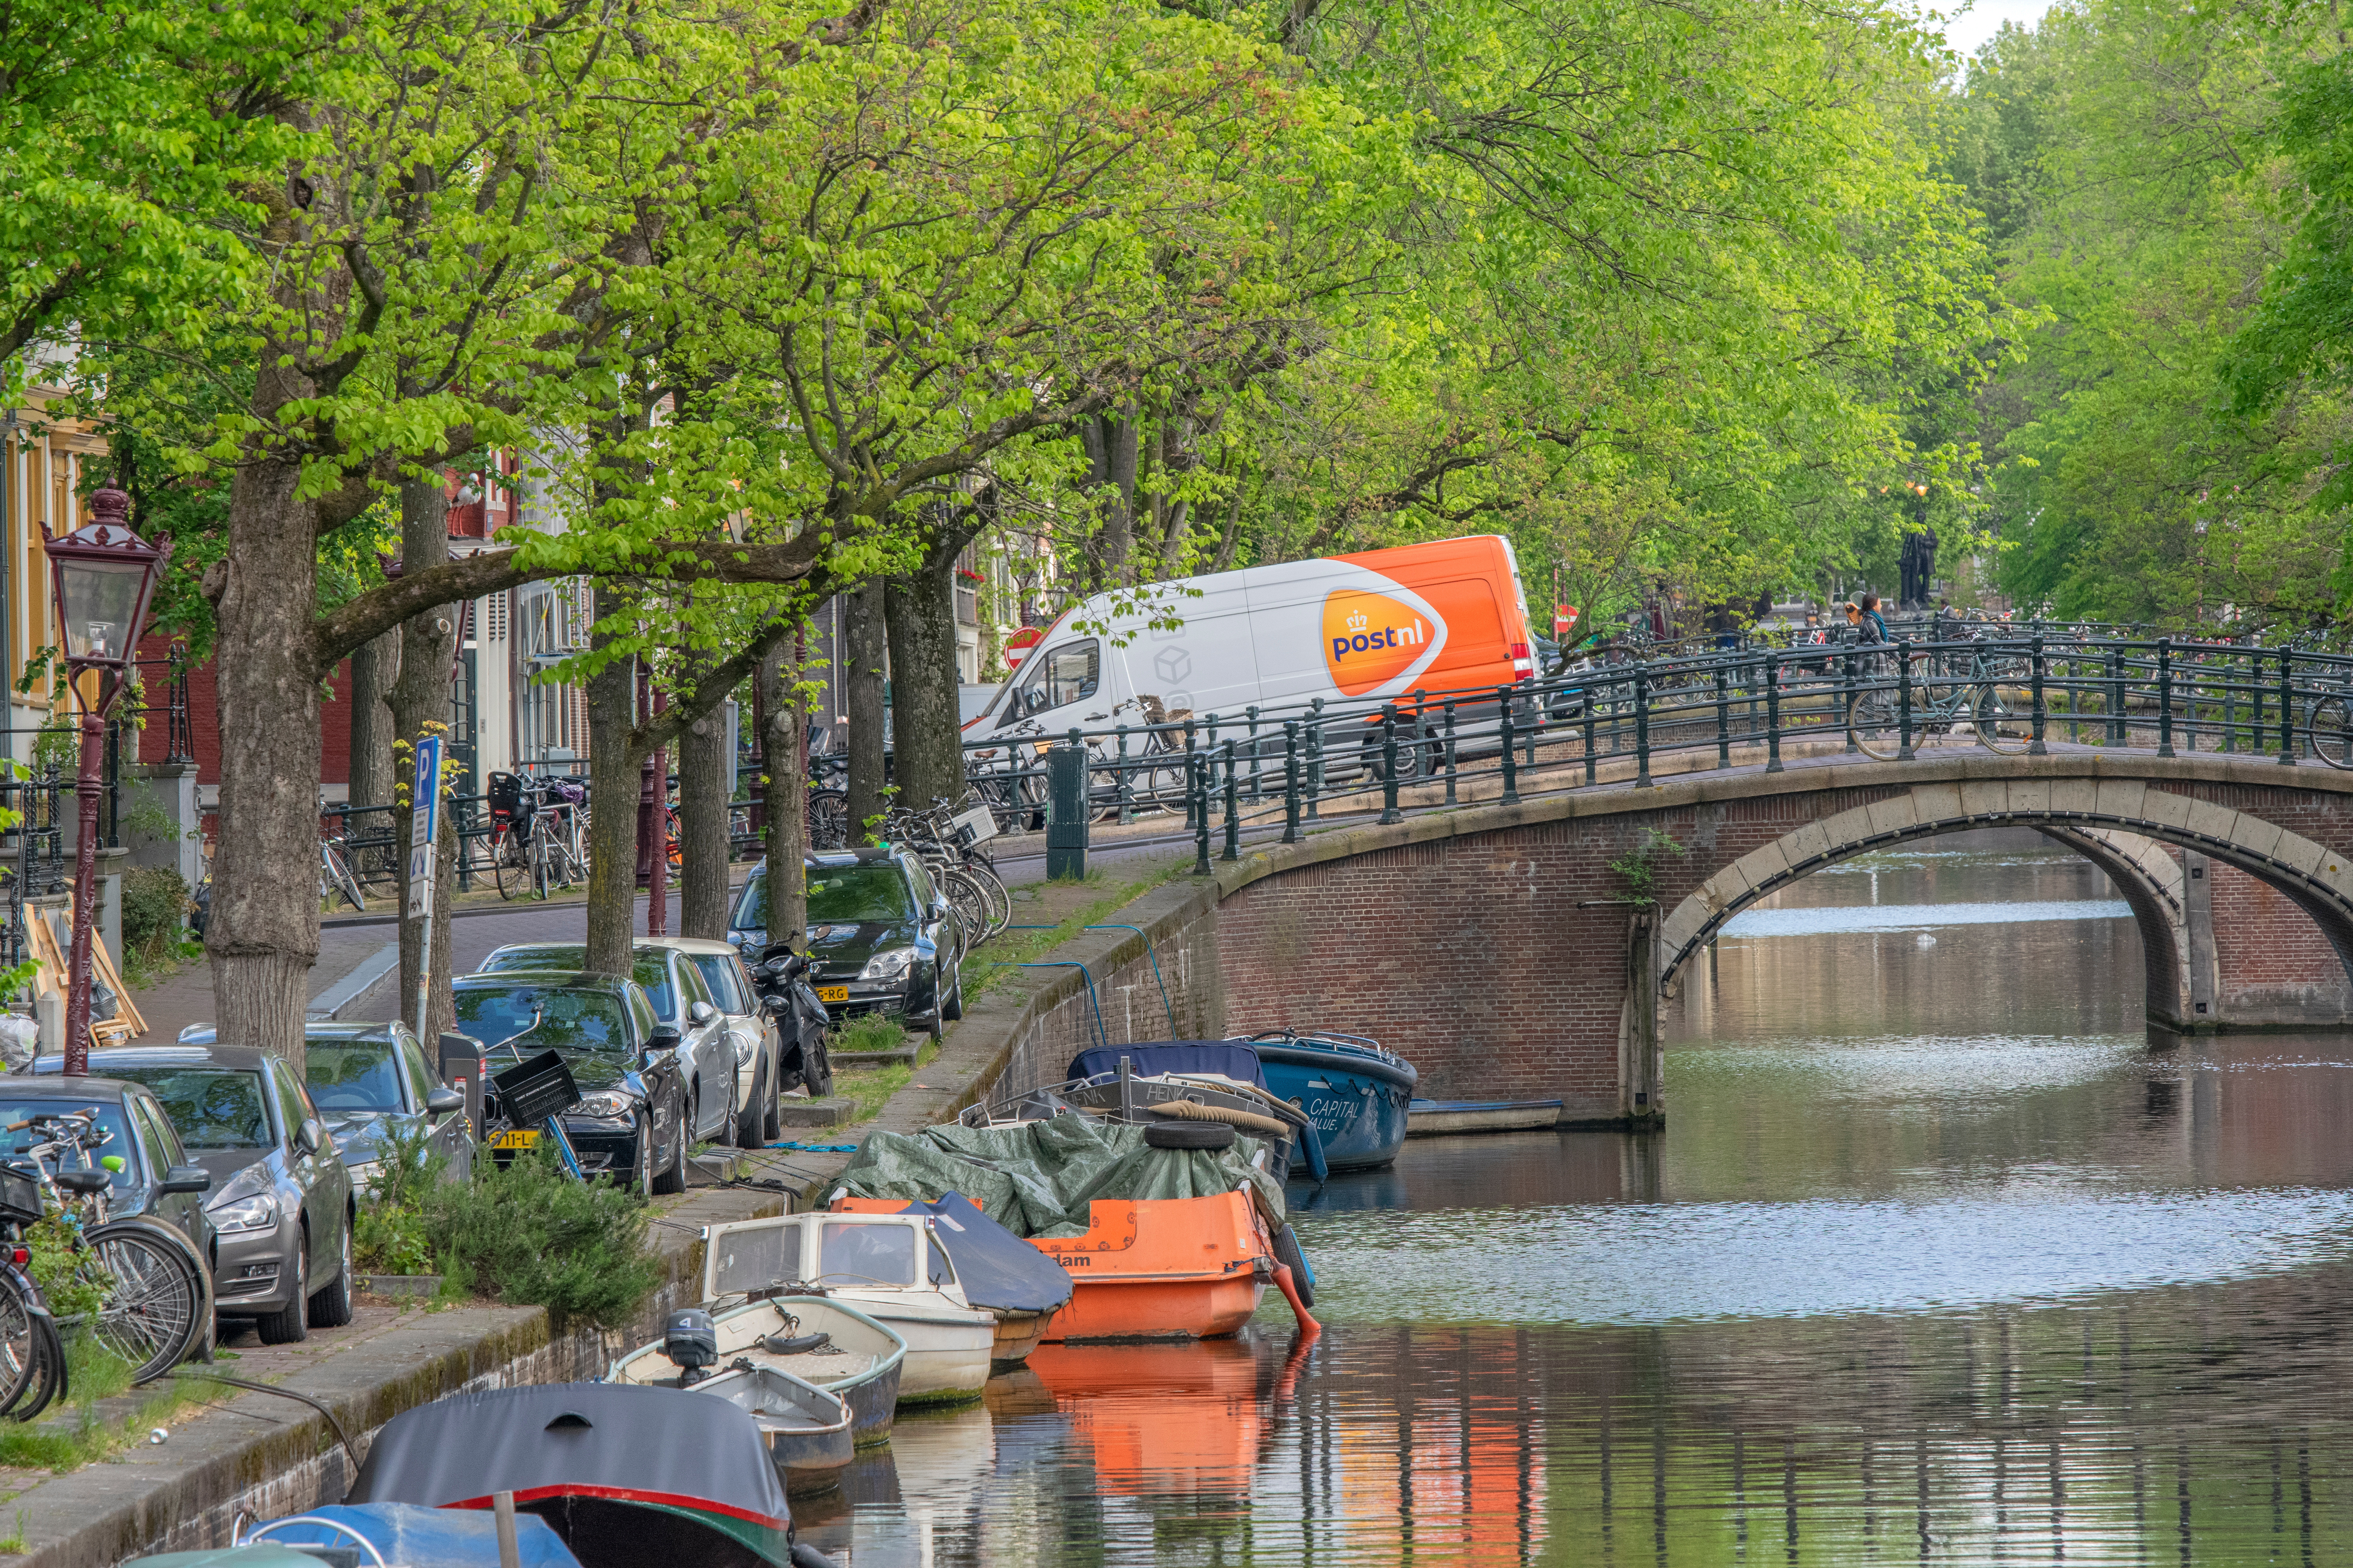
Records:
{"label": "black car with yellow number plate parked just behind the shrub", "polygon": [[[678,1030],[654,1018],[645,987],[628,976],[506,971],[459,976],[456,1027],[489,1046],[496,1074],[555,1051],[581,1103],[565,1114],[565,1138],[591,1173],[626,1173],[638,1192],[687,1185],[687,1088],[675,1056]],[[492,1147],[539,1143],[536,1128],[499,1133]]]}

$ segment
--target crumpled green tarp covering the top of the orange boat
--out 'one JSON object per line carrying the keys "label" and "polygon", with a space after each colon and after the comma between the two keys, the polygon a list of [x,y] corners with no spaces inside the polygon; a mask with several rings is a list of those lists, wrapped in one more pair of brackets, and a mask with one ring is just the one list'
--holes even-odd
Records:
{"label": "crumpled green tarp covering the top of the orange boat", "polygon": [[[1282,1218],[1282,1182],[1252,1166],[1247,1133],[1224,1150],[1155,1150],[1148,1128],[1064,1112],[1016,1126],[927,1126],[875,1133],[831,1197],[936,1199],[962,1192],[1016,1237],[1082,1237],[1094,1199],[1198,1199],[1257,1187]],[[958,1258],[962,1272],[962,1258]]]}

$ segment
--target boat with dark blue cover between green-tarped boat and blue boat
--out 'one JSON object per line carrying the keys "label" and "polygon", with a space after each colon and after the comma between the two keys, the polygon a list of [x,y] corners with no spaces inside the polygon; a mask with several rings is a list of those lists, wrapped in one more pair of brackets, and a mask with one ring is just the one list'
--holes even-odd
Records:
{"label": "boat with dark blue cover between green-tarped boat and blue boat", "polygon": [[1325,1175],[1315,1121],[1266,1086],[1259,1053],[1247,1039],[1160,1039],[1096,1046],[1071,1058],[1061,1084],[1031,1088],[995,1105],[972,1105],[965,1126],[1019,1126],[1082,1112],[1127,1126],[1155,1121],[1224,1121],[1264,1150],[1264,1168],[1280,1182],[1292,1166]]}

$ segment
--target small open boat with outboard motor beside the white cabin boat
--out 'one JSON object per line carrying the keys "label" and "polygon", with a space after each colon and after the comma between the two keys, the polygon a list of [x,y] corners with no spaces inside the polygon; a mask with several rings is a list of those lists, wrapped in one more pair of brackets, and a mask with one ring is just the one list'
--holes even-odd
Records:
{"label": "small open boat with outboard motor beside the white cabin boat", "polygon": [[[744,1361],[814,1382],[849,1406],[849,1432],[859,1448],[889,1441],[906,1340],[887,1324],[824,1295],[779,1293],[713,1312],[711,1326],[718,1366],[734,1371]],[[678,1373],[666,1340],[654,1340],[624,1352],[605,1368],[605,1382],[678,1387]]]}

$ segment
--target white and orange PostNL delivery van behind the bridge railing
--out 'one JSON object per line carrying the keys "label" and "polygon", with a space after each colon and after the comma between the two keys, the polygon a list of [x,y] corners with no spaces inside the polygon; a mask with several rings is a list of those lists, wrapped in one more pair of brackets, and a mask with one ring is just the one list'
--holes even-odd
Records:
{"label": "white and orange PostNL delivery van behind the bridge railing", "polygon": [[1381,703],[1534,679],[1520,567],[1494,534],[1219,571],[1139,595],[1125,609],[1096,595],[1064,611],[965,738],[1016,724],[1045,733],[1141,724],[1144,698],[1240,717],[1252,705],[1266,715],[1315,698]]}

